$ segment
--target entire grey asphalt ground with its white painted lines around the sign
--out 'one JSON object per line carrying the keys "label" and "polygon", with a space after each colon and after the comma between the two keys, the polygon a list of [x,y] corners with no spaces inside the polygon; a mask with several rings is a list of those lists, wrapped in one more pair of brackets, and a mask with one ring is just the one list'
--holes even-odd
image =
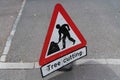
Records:
{"label": "entire grey asphalt ground with its white painted lines around the sign", "polygon": [[120,80],[119,0],[1,0],[0,79],[42,80],[38,62],[56,3],[84,35],[88,55],[44,80]]}

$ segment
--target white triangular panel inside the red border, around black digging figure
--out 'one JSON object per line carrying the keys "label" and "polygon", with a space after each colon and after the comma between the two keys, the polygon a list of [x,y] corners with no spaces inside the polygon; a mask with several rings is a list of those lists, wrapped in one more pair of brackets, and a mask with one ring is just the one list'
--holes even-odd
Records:
{"label": "white triangular panel inside the red border, around black digging figure", "polygon": [[[50,42],[57,43],[58,40],[59,40],[59,31],[60,31],[60,30],[56,29],[56,25],[57,25],[57,24],[60,24],[61,27],[65,27],[64,29],[67,29],[67,28],[66,28],[67,26],[62,26],[62,25],[64,25],[64,24],[67,24],[67,25],[68,25],[68,23],[67,23],[67,21],[64,19],[64,17],[61,15],[60,12],[59,12],[58,15],[57,15],[56,23],[55,23],[55,26],[54,26],[54,29],[53,29],[53,32],[52,32],[52,36],[51,36]],[[58,53],[58,52],[61,52],[61,51],[64,51],[65,49],[68,49],[68,48],[70,48],[70,47],[72,47],[72,46],[76,46],[76,45],[78,45],[78,44],[81,44],[81,41],[78,39],[78,37],[76,36],[76,34],[74,33],[74,31],[71,29],[71,26],[70,26],[70,25],[68,25],[68,26],[69,26],[69,29],[70,29],[70,31],[68,31],[70,37],[61,33],[61,41],[59,42],[59,44],[57,44],[57,45],[59,46],[60,50],[57,51],[57,53]],[[61,29],[61,30],[62,30],[62,29]],[[62,32],[63,32],[63,30],[62,30]],[[63,32],[63,33],[64,33],[64,32]],[[65,39],[63,39],[64,36],[65,36]],[[71,41],[71,39],[72,39],[72,40],[75,40],[75,44],[74,44],[74,45],[73,45],[73,42]],[[64,43],[63,43],[63,40],[65,40]],[[62,48],[63,48],[63,44],[66,45],[66,46],[65,46],[65,49],[62,49]],[[50,43],[49,43],[49,47],[48,47],[48,49],[47,49],[47,53],[48,53],[49,48],[50,48]],[[56,54],[56,53],[52,53],[52,54],[50,54],[50,55],[46,54],[46,58],[47,58],[47,57],[50,57],[50,56],[53,56],[54,54]]]}

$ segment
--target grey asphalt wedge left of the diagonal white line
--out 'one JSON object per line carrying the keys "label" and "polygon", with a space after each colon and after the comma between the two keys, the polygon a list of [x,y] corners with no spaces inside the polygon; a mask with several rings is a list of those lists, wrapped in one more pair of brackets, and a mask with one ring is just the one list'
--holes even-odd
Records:
{"label": "grey asphalt wedge left of the diagonal white line", "polygon": [[21,4],[22,0],[0,0],[0,56]]}

